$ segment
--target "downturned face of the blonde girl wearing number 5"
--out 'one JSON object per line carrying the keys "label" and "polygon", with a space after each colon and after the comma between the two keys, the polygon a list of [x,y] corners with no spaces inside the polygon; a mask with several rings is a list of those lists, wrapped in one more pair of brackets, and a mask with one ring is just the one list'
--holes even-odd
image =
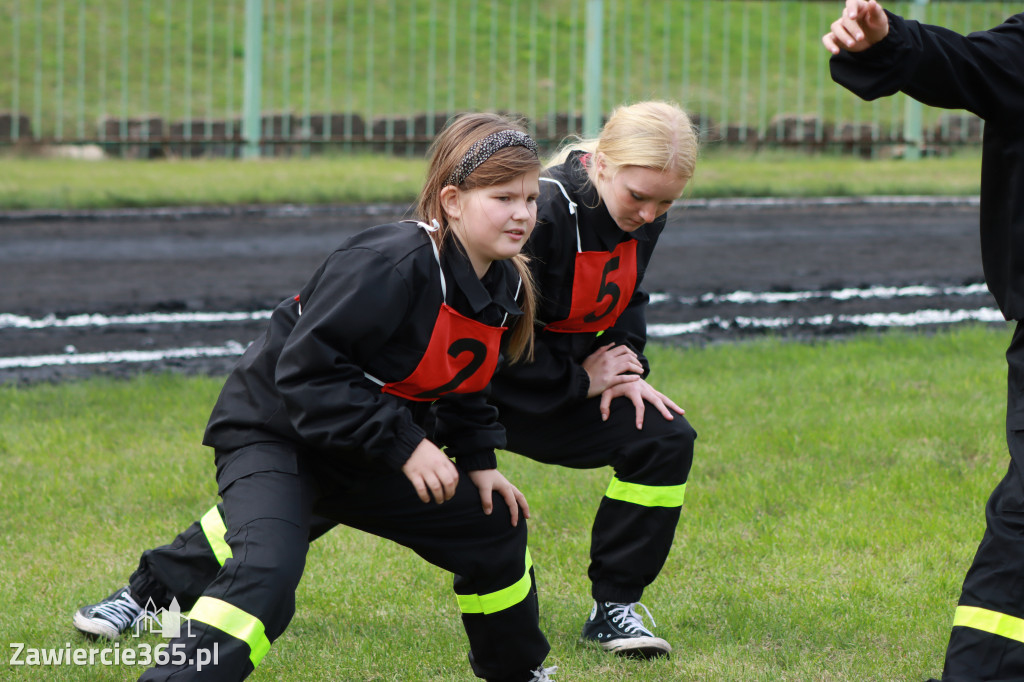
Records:
{"label": "downturned face of the blonde girl wearing number 5", "polygon": [[686,187],[686,178],[642,166],[623,166],[611,175],[598,158],[594,171],[598,191],[612,220],[625,232],[653,222],[665,214]]}

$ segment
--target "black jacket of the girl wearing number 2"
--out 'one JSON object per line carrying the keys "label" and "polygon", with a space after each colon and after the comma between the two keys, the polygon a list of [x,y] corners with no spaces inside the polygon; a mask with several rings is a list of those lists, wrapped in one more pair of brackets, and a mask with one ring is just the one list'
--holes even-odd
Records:
{"label": "black jacket of the girl wearing number 2", "polygon": [[[441,251],[447,303],[493,327],[519,315],[511,263],[477,279],[458,241]],[[301,314],[299,306],[301,305]],[[227,378],[204,442],[234,451],[284,441],[332,470],[400,469],[424,437],[446,445],[467,470],[495,467],[505,445],[483,393],[447,394],[433,404],[381,392],[365,372],[401,381],[419,364],[441,305],[437,261],[412,222],[371,227],[332,253],[299,293],[270,316],[263,338]]]}

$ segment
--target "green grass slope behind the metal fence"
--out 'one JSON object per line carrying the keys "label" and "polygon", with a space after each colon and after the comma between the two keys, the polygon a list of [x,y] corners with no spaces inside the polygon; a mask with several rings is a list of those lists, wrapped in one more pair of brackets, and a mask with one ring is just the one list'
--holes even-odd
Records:
{"label": "green grass slope behind the metal fence", "polygon": [[[586,4],[266,0],[263,110],[368,120],[467,109],[579,115]],[[967,32],[1001,22],[1005,5],[932,2],[923,11],[930,23]],[[828,78],[819,38],[841,3],[604,6],[605,111],[663,97],[719,123],[759,128],[779,114],[884,127],[902,117],[901,100],[865,104]],[[887,3],[903,14],[910,6]],[[104,117],[222,120],[242,111],[242,0],[9,0],[4,7],[0,111],[29,116],[37,136],[94,138]],[[930,110],[926,122],[936,117]]]}

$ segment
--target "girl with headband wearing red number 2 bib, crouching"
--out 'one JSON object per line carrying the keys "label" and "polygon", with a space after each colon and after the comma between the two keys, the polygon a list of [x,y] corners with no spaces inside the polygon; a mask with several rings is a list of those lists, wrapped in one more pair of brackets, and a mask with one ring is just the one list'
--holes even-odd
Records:
{"label": "girl with headband wearing red number 2 bib, crouching", "polygon": [[[128,587],[79,609],[75,626],[117,637],[146,605],[176,602],[190,630],[140,679],[241,680],[291,620],[311,522],[327,519],[455,573],[478,677],[549,680],[529,510],[496,468],[504,429],[484,396],[500,352],[532,352],[520,250],[540,170],[535,142],[502,117],[449,126],[432,147],[420,221],[342,244],[227,378],[204,438],[221,503],[144,552]],[[211,650],[216,665],[207,656],[199,670],[199,652]]]}

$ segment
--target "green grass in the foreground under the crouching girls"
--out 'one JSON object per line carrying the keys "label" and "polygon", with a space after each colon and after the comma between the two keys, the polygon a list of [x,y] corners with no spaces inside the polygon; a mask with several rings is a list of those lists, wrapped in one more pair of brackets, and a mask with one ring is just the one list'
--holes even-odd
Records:
{"label": "green grass in the foreground under the crouching girls", "polygon": [[[985,499],[1007,464],[1009,337],[999,326],[652,347],[652,382],[699,434],[675,547],[644,596],[675,647],[668,662],[577,643],[590,523],[609,472],[502,455],[534,512],[556,679],[936,675]],[[86,646],[74,608],[122,584],[140,550],[214,502],[199,443],[219,384],[142,376],[0,388],[2,639]],[[296,617],[253,679],[471,679],[449,578],[382,541],[332,532],[313,547]]]}

